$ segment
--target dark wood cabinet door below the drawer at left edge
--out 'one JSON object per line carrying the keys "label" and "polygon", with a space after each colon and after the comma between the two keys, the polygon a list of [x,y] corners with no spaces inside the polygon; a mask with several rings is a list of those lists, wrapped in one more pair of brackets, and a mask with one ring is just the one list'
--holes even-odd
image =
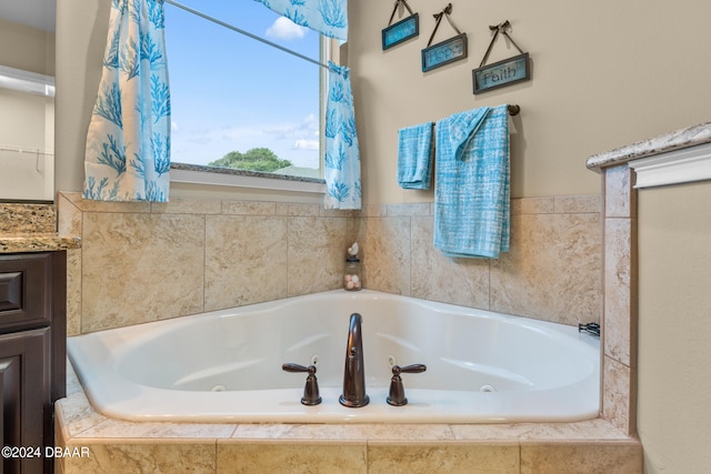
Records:
{"label": "dark wood cabinet door below the drawer at left edge", "polygon": [[[2,473],[41,473],[52,422],[49,329],[0,335],[0,446],[32,447],[40,457],[3,457]],[[51,431],[50,431],[51,433]]]}

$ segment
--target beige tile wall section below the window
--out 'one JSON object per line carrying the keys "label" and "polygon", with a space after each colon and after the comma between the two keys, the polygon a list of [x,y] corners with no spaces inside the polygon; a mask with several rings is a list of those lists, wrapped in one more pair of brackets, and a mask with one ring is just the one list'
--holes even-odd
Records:
{"label": "beige tile wall section below the window", "polygon": [[340,288],[350,211],[269,201],[106,203],[60,193],[70,335]]}

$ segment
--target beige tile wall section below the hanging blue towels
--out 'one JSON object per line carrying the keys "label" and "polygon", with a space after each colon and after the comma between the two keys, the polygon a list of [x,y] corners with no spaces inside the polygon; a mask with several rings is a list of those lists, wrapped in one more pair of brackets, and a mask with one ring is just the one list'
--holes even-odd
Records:
{"label": "beige tile wall section below the hanging blue towels", "polygon": [[430,203],[361,215],[365,288],[564,324],[600,321],[597,195],[512,200],[511,251],[499,260],[443,256],[432,246]]}

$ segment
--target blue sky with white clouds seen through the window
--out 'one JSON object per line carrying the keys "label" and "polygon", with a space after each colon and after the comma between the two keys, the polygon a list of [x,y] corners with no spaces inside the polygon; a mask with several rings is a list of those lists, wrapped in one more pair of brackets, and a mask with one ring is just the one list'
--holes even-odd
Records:
{"label": "blue sky with white clouds seen through the window", "polygon": [[[253,0],[178,0],[319,60],[319,34]],[[207,164],[266,147],[319,165],[321,68],[166,3],[171,161]]]}

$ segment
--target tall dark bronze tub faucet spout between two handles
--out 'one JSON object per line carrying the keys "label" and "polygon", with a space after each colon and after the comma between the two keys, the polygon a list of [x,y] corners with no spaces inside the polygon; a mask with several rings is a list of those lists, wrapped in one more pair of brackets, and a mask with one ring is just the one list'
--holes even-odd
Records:
{"label": "tall dark bronze tub faucet spout between two handles", "polygon": [[362,316],[351,314],[346,346],[346,366],[343,369],[343,393],[339,402],[343,406],[358,409],[368,405],[370,399],[365,394],[365,366],[363,364],[363,339],[361,333]]}

